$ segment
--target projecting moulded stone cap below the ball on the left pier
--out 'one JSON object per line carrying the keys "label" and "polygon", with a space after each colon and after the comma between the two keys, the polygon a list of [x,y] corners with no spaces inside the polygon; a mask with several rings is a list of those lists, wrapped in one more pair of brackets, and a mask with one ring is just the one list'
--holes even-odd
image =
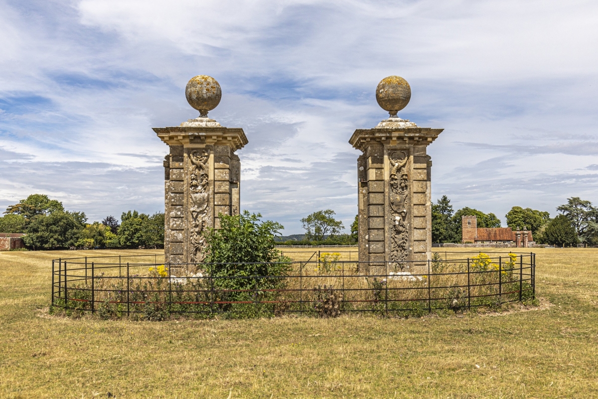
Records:
{"label": "projecting moulded stone cap below the ball on the left pier", "polygon": [[248,143],[245,132],[240,127],[222,127],[216,121],[201,119],[206,119],[206,123],[194,124],[195,120],[191,119],[181,123],[181,126],[153,127],[152,130],[168,145],[228,145],[235,151]]}

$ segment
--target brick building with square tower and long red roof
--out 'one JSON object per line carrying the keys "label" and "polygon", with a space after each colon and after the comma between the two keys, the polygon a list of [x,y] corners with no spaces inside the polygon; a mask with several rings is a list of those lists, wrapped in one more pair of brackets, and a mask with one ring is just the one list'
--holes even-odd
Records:
{"label": "brick building with square tower and long red roof", "polygon": [[532,232],[529,230],[513,231],[511,227],[478,227],[475,216],[463,216],[461,222],[463,227],[461,243],[502,243],[517,248],[527,248],[535,244]]}

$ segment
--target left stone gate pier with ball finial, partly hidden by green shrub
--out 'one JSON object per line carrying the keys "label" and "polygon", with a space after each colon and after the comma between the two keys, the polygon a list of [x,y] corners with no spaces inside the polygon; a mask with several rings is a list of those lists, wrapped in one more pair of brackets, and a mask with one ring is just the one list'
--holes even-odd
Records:
{"label": "left stone gate pier with ball finial, partly hidden by green shrub", "polygon": [[164,160],[164,255],[172,264],[202,262],[203,232],[220,227],[219,214],[239,214],[241,165],[234,151],[248,143],[243,129],[208,118],[222,96],[215,79],[192,78],[185,95],[200,116],[153,129],[170,148]]}

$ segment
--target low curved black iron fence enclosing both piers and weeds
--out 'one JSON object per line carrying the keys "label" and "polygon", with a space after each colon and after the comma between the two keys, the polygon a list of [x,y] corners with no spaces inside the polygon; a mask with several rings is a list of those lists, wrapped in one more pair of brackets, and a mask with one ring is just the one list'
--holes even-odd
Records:
{"label": "low curved black iron fence enclosing both piers and weeds", "polygon": [[52,263],[51,303],[67,312],[160,319],[221,313],[422,315],[535,299],[535,254],[492,255],[371,264],[326,257],[176,265],[155,262],[157,255],[58,259]]}

